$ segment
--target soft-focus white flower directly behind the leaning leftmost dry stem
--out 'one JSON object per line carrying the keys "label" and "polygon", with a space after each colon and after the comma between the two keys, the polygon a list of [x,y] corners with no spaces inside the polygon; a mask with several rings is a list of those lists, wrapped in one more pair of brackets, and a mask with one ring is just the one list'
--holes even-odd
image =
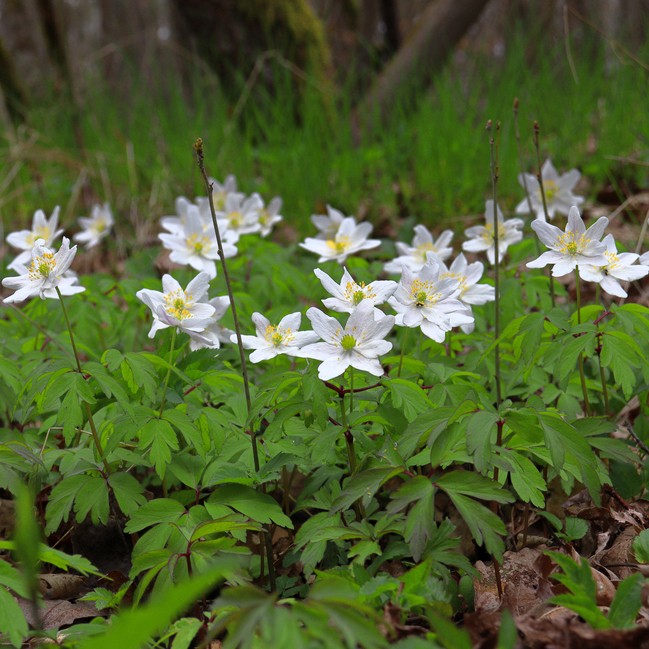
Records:
{"label": "soft-focus white flower directly behind the leaning leftmost dry stem", "polygon": [[[171,261],[206,272],[210,278],[216,277],[215,260],[219,257],[216,237],[201,218],[195,205],[187,207],[182,229],[169,234],[162,233],[158,237],[164,247],[171,250]],[[229,243],[223,243],[223,254],[226,258],[234,257],[237,249]]]}

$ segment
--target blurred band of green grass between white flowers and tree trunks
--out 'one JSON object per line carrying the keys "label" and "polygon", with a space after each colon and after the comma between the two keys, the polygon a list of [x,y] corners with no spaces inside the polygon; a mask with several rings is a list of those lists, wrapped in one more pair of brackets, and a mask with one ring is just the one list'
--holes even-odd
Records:
{"label": "blurred band of green grass between white flowers and tree trunks", "polygon": [[[75,141],[71,110],[55,101],[32,110],[29,129],[5,135],[0,161],[7,169],[17,165],[16,175],[0,185],[5,229],[26,222],[38,207],[51,211],[56,204],[64,206],[64,224],[73,226],[92,202],[104,199],[121,215],[122,234],[131,236],[136,225],[141,232],[147,222],[154,229],[161,215],[173,211],[176,196],[204,193],[193,159],[197,136],[205,141],[214,177],[234,173],[243,191],[260,191],[267,199],[281,195],[298,235],[310,232],[309,215],[325,203],[397,227],[397,217],[406,215],[431,226],[457,224],[458,216],[482,210],[490,192],[488,119],[502,123],[501,203],[511,209],[522,198],[514,97],[520,98],[530,171],[536,165],[532,124],[538,120],[543,158],[551,157],[558,169],[580,168],[591,194],[619,176],[646,185],[646,167],[616,160],[647,158],[646,72],[621,59],[607,67],[605,48],[598,41],[573,50],[577,83],[563,49],[531,69],[520,39],[502,65],[472,61],[464,78],[457,66],[447,68],[432,90],[420,93],[414,109],[397,108],[386,125],[372,125],[365,116],[358,146],[349,93],[331,97],[308,83],[296,89],[280,66],[274,91],[253,86],[240,111],[204,71],[183,83],[133,83],[127,99],[96,85],[84,93],[79,118],[85,151]],[[649,52],[639,57],[649,60]],[[90,191],[79,195],[85,178]]]}

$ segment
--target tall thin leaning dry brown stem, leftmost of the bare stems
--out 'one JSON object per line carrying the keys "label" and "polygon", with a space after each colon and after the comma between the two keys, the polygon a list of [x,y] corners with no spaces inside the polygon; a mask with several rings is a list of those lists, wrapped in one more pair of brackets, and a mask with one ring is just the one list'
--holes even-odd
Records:
{"label": "tall thin leaning dry brown stem, leftmost of the bare stems", "polygon": [[[239,359],[241,361],[241,373],[243,374],[243,389],[246,395],[246,407],[248,409],[248,415],[251,411],[251,399],[250,399],[250,383],[248,381],[248,367],[246,365],[246,355],[243,351],[243,341],[241,339],[241,326],[239,325],[239,317],[237,315],[237,307],[234,302],[234,294],[232,292],[232,284],[230,282],[230,276],[228,275],[228,267],[225,263],[225,254],[223,253],[223,243],[221,241],[221,233],[219,231],[219,225],[216,220],[216,210],[214,209],[214,201],[212,199],[212,194],[214,187],[210,182],[207,171],[205,171],[205,160],[203,155],[203,140],[198,138],[194,144],[194,150],[196,151],[196,159],[198,162],[198,168],[201,171],[203,176],[203,181],[207,189],[207,199],[210,205],[210,214],[212,215],[212,225],[214,227],[214,234],[216,235],[216,244],[217,252],[219,259],[221,260],[221,268],[223,269],[223,279],[225,280],[225,285],[228,291],[228,298],[230,300],[230,308],[232,310],[232,319],[234,320],[234,330],[237,337],[237,347],[239,348]],[[257,448],[257,436],[252,428],[248,431],[250,434],[250,442],[252,444],[252,457],[255,465],[255,471],[259,473],[259,450]],[[266,555],[268,557],[268,578],[270,580],[270,589],[271,591],[275,590],[275,566],[273,564],[273,543],[270,538],[270,535],[262,531],[262,537],[266,546]]]}

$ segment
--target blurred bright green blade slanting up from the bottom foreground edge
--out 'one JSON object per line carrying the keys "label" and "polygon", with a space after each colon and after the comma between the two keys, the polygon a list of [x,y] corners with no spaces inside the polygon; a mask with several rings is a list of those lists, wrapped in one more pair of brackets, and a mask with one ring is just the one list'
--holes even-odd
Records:
{"label": "blurred bright green blade slanting up from the bottom foreground edge", "polygon": [[102,635],[82,640],[78,649],[140,649],[152,642],[198,598],[235,572],[231,559],[218,559],[207,572],[154,594],[137,609],[116,615]]}

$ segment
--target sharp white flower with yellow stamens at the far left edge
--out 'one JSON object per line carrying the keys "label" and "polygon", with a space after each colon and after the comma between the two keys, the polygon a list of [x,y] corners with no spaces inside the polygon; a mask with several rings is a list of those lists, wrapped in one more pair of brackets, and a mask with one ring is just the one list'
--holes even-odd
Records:
{"label": "sharp white flower with yellow stamens at the far left edge", "polygon": [[76,253],[77,247],[70,248],[70,240],[66,237],[63,237],[61,247],[56,253],[45,245],[43,239],[38,239],[30,253],[29,266],[17,265],[15,270],[19,276],[5,277],[2,280],[3,286],[16,291],[3,301],[22,302],[35,295],[42,300],[45,298],[58,300],[57,288],[61,295],[74,295],[85,291],[83,286],[77,285],[77,276],[69,271]]}

